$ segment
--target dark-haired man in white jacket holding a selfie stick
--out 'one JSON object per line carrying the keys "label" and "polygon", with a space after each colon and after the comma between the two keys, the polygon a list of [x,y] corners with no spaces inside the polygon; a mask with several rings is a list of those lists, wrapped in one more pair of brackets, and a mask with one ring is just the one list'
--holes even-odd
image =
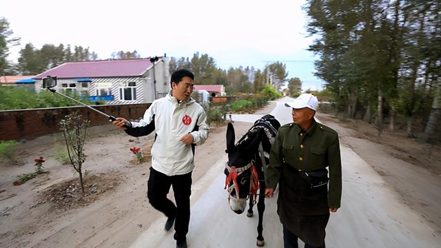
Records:
{"label": "dark-haired man in white jacket holding a selfie stick", "polygon": [[[171,86],[170,93],[155,100],[141,121],[116,118],[113,123],[132,136],[155,132],[147,198],[167,216],[166,231],[176,219],[176,247],[187,247],[194,146],[205,142],[209,127],[203,107],[190,97],[194,89],[192,72],[177,70],[172,74]],[[170,186],[176,206],[167,198]]]}

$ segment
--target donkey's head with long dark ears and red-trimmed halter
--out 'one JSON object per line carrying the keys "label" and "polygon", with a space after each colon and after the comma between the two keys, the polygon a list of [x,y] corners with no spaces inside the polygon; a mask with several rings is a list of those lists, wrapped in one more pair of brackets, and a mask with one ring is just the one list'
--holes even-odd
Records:
{"label": "donkey's head with long dark ears and red-trimmed halter", "polygon": [[[225,187],[228,188],[229,206],[242,214],[247,205],[246,201],[252,187],[252,174],[256,177],[256,170],[251,162],[258,152],[261,132],[247,132],[237,144],[234,143],[235,133],[232,123],[227,127],[227,154],[228,162],[225,169],[227,180]],[[257,178],[255,178],[257,180]]]}

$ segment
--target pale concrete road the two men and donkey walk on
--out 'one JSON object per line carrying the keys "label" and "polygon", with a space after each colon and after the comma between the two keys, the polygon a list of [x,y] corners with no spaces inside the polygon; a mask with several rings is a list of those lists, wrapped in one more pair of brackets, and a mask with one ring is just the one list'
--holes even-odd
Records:
{"label": "pale concrete road the two men and donkey walk on", "polygon": [[[291,122],[290,110],[277,102],[271,112],[280,123]],[[233,115],[233,121],[254,122],[262,115]],[[251,124],[250,124],[251,126]],[[224,141],[220,141],[224,142]],[[327,247],[441,247],[441,239],[418,214],[400,203],[382,177],[349,147],[342,154],[342,207],[331,214],[327,226]],[[192,189],[192,217],[189,247],[256,247],[255,215],[234,214],[223,189],[223,166],[217,161]],[[195,200],[196,199],[196,200]],[[265,247],[283,247],[282,227],[276,214],[276,198],[266,199],[263,236]],[[255,213],[257,209],[255,207]],[[175,247],[173,231],[163,231],[165,218],[153,223],[131,247]],[[299,242],[302,247],[302,242]]]}

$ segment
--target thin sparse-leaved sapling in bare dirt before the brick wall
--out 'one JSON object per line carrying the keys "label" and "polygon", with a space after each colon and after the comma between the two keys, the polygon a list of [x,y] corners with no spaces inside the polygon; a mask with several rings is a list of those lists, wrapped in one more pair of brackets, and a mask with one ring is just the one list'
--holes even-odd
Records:
{"label": "thin sparse-leaved sapling in bare dirt before the brick wall", "polygon": [[81,191],[84,192],[83,163],[87,157],[84,154],[84,144],[90,121],[83,120],[78,112],[72,112],[60,121],[61,130],[68,147],[68,156],[75,172],[78,172],[81,183]]}

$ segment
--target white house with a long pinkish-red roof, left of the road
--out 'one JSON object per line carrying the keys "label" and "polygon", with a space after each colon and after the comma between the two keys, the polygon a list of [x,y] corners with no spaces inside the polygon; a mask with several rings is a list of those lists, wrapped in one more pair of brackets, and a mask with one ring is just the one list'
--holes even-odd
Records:
{"label": "white house with a long pinkish-red roof, left of the road", "polygon": [[35,87],[39,91],[45,76],[57,76],[55,90],[76,91],[92,101],[151,103],[170,91],[169,59],[155,59],[63,63],[34,76]]}

